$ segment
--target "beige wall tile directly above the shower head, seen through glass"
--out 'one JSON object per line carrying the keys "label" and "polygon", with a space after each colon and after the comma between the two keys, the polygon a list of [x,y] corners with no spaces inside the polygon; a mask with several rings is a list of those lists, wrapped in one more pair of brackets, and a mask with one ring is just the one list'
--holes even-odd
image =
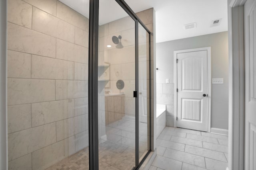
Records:
{"label": "beige wall tile directly above the shower head, seen through glass", "polygon": [[119,20],[108,23],[109,34],[117,33],[131,28],[135,28],[135,22],[130,17],[121,18]]}

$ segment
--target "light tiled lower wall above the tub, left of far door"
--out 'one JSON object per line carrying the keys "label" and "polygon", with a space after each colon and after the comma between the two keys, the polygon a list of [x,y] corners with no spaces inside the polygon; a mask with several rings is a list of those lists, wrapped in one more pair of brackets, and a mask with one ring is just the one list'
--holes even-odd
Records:
{"label": "light tiled lower wall above the tub, left of far door", "polygon": [[166,105],[166,126],[173,127],[174,124],[174,84],[156,84],[156,104]]}

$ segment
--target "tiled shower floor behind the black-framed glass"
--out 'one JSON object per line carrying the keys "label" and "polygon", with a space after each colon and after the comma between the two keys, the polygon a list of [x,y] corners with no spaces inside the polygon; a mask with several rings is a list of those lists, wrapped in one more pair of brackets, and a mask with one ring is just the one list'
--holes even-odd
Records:
{"label": "tiled shower floor behind the black-framed glass", "polygon": [[[107,140],[99,145],[100,170],[131,170],[135,165],[135,119],[123,117],[106,126]],[[147,124],[140,123],[140,156],[147,150]],[[47,170],[88,170],[88,147]]]}

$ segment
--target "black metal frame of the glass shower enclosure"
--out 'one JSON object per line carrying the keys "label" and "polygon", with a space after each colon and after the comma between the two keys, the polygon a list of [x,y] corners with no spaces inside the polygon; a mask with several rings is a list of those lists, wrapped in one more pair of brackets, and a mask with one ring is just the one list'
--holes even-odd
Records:
{"label": "black metal frame of the glass shower enclosure", "polygon": [[[126,4],[124,0],[115,0],[135,21],[135,70],[136,70],[136,156],[134,170],[140,168],[148,154],[151,152],[151,148],[148,150],[141,162],[139,162],[139,80],[138,80],[138,24],[142,25],[144,29],[149,33],[149,77],[151,80],[151,35],[149,29],[142,23],[138,16],[132,11],[132,9]],[[89,72],[88,72],[88,107],[89,107],[89,169],[98,170],[99,154],[98,154],[98,25],[99,25],[99,0],[90,0],[90,20],[89,20]],[[151,82],[151,81],[150,81]],[[151,104],[151,84],[149,85],[150,91],[150,104]],[[151,117],[151,107],[149,110]],[[150,124],[149,134],[151,135],[151,119],[148,122]],[[151,137],[149,140],[149,146],[151,146]]]}

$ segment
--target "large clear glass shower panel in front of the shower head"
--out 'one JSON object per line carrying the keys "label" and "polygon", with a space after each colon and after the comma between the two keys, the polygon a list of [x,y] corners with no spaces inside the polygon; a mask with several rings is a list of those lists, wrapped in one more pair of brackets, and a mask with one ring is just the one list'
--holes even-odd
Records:
{"label": "large clear glass shower panel in front of the shower head", "polygon": [[99,4],[100,169],[135,166],[135,21],[112,0]]}

